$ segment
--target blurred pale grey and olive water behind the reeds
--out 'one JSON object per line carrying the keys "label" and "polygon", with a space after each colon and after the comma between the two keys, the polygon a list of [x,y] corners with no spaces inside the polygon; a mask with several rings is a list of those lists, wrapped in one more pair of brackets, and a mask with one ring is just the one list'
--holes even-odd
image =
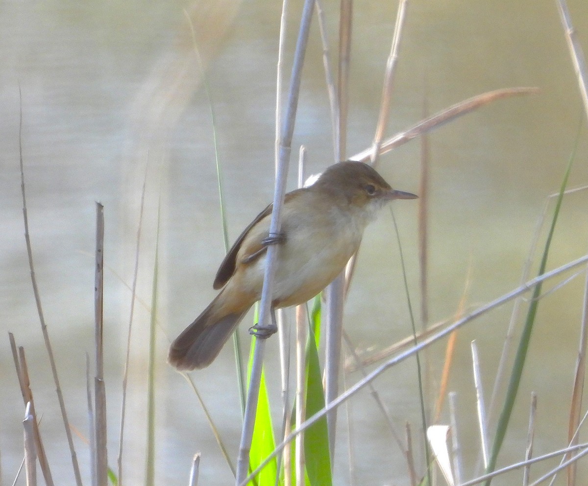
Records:
{"label": "blurred pale grey and olive water behind the reeds", "polygon": [[[336,6],[325,8],[336,52]],[[290,9],[287,73],[299,9],[300,2]],[[354,9],[348,154],[365,149],[373,136],[396,5],[357,2]],[[588,49],[588,6],[572,0],[570,9],[580,41]],[[114,272],[131,284],[133,238],[147,161],[139,296],[147,303],[151,299],[160,188],[162,329],[173,337],[215,295],[212,280],[224,249],[212,125],[184,10],[196,23],[207,66],[232,240],[273,193],[278,2],[211,7],[169,1],[12,0],[0,5],[0,478],[4,484],[11,484],[22,458],[24,414],[8,331],[15,333],[18,345],[25,346],[56,484],[74,482],[26,260],[18,168],[19,85],[36,276],[69,416],[85,435],[85,352],[91,352],[93,339],[94,202],[105,205],[105,261],[112,269],[105,274],[104,315],[109,463],[113,467],[130,308],[128,288]],[[312,32],[293,143],[293,154],[300,143],[307,146],[309,173],[322,170],[333,157],[316,18]],[[432,113],[474,94],[513,86],[538,86],[541,93],[493,103],[430,136],[432,322],[455,313],[468,273],[469,305],[494,299],[518,285],[546,195],[559,188],[582,108],[554,2],[410,2],[389,134],[420,119],[425,97]],[[380,161],[380,172],[395,187],[417,192],[419,150],[415,140],[387,154]],[[588,181],[587,150],[584,128],[570,187]],[[290,187],[294,184],[292,170]],[[586,202],[584,193],[564,201],[550,268],[586,252]],[[395,204],[412,301],[418,308],[416,209],[411,201]],[[550,282],[546,288],[553,285]],[[580,276],[540,305],[501,464],[523,458],[532,390],[539,396],[534,454],[566,443],[582,293]],[[125,436],[127,484],[142,482],[146,435],[144,351],[149,317],[141,304],[135,310]],[[458,393],[466,477],[473,473],[479,449],[469,342],[476,339],[480,347],[489,400],[509,316],[510,307],[501,308],[468,325],[457,340],[450,389]],[[242,327],[245,338],[247,326]],[[383,211],[366,232],[346,305],[346,328],[362,349],[379,349],[410,332],[389,211]],[[196,451],[203,454],[201,484],[231,484],[230,471],[195,396],[165,364],[167,343],[160,331],[158,484],[185,484]],[[268,348],[268,363],[276,363],[275,339]],[[436,370],[434,384],[443,353],[443,345],[430,353]],[[274,390],[272,405],[277,414],[280,386],[275,369],[269,366],[268,383]],[[352,374],[348,383],[358,377]],[[218,362],[194,373],[194,379],[235,457],[240,409],[230,346]],[[419,443],[415,362],[409,360],[390,370],[376,385],[398,429],[410,421]],[[408,484],[402,454],[368,392],[352,400],[351,414],[356,484]],[[350,484],[343,418],[341,414],[336,481]],[[442,421],[447,421],[446,411]],[[88,450],[79,438],[75,442],[88,484]],[[420,458],[417,461],[422,464]],[[538,465],[532,471],[539,475],[546,468]],[[583,465],[580,478],[586,471]],[[519,478],[518,473],[510,476],[517,482]],[[496,484],[508,484],[507,479]]]}

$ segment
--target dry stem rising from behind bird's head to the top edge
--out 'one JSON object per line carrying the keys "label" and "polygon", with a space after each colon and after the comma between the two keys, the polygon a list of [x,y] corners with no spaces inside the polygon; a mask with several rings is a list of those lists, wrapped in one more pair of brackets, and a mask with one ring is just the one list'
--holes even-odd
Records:
{"label": "dry stem rising from behind bird's head to the top edge", "polygon": [[377,163],[377,158],[380,154],[380,147],[382,146],[382,139],[388,124],[390,115],[390,100],[392,99],[392,88],[394,84],[394,75],[396,72],[396,62],[398,60],[398,51],[400,49],[400,38],[402,34],[402,26],[405,21],[407,0],[400,0],[398,4],[398,11],[396,14],[396,23],[394,26],[394,33],[392,35],[392,46],[390,46],[390,54],[386,62],[386,72],[384,75],[384,83],[382,87],[382,99],[380,101],[380,114],[377,119],[376,132],[373,137],[373,146],[371,154],[371,163],[373,166]]}

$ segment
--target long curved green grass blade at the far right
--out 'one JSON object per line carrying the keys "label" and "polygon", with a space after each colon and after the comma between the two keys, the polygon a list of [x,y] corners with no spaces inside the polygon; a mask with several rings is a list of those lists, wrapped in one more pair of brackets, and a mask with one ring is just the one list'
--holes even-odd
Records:
{"label": "long curved green grass blade at the far right", "polygon": [[[570,175],[570,171],[572,170],[572,163],[574,157],[576,156],[576,150],[578,147],[578,142],[580,140],[580,129],[582,124],[578,127],[578,133],[576,136],[576,142],[574,143],[574,148],[572,150],[572,155],[567,163],[566,171],[563,175],[562,185],[559,190],[559,196],[557,197],[557,203],[555,205],[555,209],[553,211],[553,219],[551,223],[551,227],[549,228],[549,234],[547,234],[547,240],[545,242],[545,248],[543,249],[543,256],[541,258],[541,264],[539,266],[539,274],[543,275],[545,273],[545,268],[547,266],[547,257],[549,255],[549,247],[552,242],[553,234],[555,231],[555,225],[557,222],[557,217],[559,215],[560,208],[562,207],[563,201],[563,194],[566,190],[567,180]],[[500,452],[500,448],[502,447],[502,443],[506,436],[506,431],[509,425],[510,416],[512,414],[513,406],[515,405],[515,399],[517,393],[519,391],[519,384],[520,379],[523,374],[523,367],[524,362],[527,357],[527,350],[529,349],[529,342],[531,339],[531,332],[533,330],[533,324],[535,322],[535,316],[537,314],[537,307],[539,306],[539,296],[541,295],[541,284],[535,286],[533,290],[533,297],[531,299],[531,303],[529,305],[529,312],[527,313],[527,318],[524,323],[523,333],[520,337],[519,347],[517,348],[516,356],[515,356],[515,363],[513,364],[513,371],[510,375],[509,380],[509,387],[506,392],[505,404],[503,406],[502,412],[500,413],[500,417],[498,420],[498,425],[496,427],[496,436],[494,439],[494,444],[492,446],[492,455],[490,456],[490,461],[488,463],[488,467],[486,469],[486,473],[492,473],[496,467],[496,460],[498,458],[498,454]],[[485,486],[490,486],[490,479],[486,481]]]}

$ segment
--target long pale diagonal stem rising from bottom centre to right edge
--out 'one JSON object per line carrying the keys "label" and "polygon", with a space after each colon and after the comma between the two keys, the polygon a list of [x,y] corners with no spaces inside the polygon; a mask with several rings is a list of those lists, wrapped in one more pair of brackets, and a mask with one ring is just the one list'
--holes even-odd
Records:
{"label": "long pale diagonal stem rising from bottom centre to right edge", "polygon": [[[375,370],[373,370],[370,374],[368,374],[368,376],[365,379],[361,380],[359,383],[356,383],[355,385],[350,387],[350,389],[348,389],[344,393],[340,394],[340,396],[337,397],[337,399],[335,401],[330,403],[324,409],[316,412],[312,417],[307,419],[304,423],[297,424],[296,430],[293,430],[292,433],[288,437],[286,437],[286,439],[282,443],[278,444],[278,446],[276,446],[276,448],[272,452],[272,454],[270,454],[259,465],[259,467],[256,468],[255,471],[253,471],[253,473],[251,475],[249,475],[247,478],[245,478],[244,481],[239,482],[238,486],[245,486],[247,481],[249,481],[253,477],[255,477],[255,475],[260,470],[262,470],[262,468],[264,468],[266,466],[266,464],[268,464],[269,461],[271,461],[272,458],[275,457],[276,454],[279,454],[280,451],[282,451],[286,442],[292,441],[300,432],[302,432],[303,430],[306,430],[308,427],[312,426],[312,424],[315,423],[317,420],[319,420],[321,417],[325,416],[326,412],[329,409],[331,409],[332,407],[338,407],[340,404],[342,404],[344,401],[348,400],[350,397],[352,397],[353,395],[358,393],[359,390],[362,390],[363,387],[365,387],[368,383],[375,380],[378,376],[380,376],[380,374],[385,372],[390,367],[393,367],[393,366],[397,365],[398,363],[403,362],[405,359],[407,359],[410,356],[415,355],[416,353],[420,352],[425,347],[432,345],[432,343],[435,343],[440,339],[446,338],[447,335],[452,333],[454,330],[459,329],[460,327],[462,327],[466,323],[468,323],[472,320],[475,320],[475,319],[479,318],[480,316],[484,315],[485,313],[490,312],[493,309],[496,309],[496,308],[504,305],[506,302],[510,302],[513,299],[516,299],[519,295],[522,295],[523,293],[529,292],[536,285],[539,285],[543,281],[546,281],[547,279],[553,278],[556,275],[562,274],[563,272],[567,272],[570,269],[575,268],[576,266],[584,265],[587,262],[588,262],[588,255],[584,255],[583,257],[577,258],[571,262],[568,262],[565,265],[559,266],[550,272],[544,272],[543,274],[536,276],[535,278],[531,279],[530,281],[526,282],[525,284],[520,285],[516,289],[514,289],[508,293],[505,293],[504,295],[493,300],[492,302],[489,302],[483,306],[480,306],[475,311],[471,312],[469,315],[465,316],[462,319],[457,320],[452,325],[447,326],[447,328],[443,329],[442,331],[436,333],[433,336],[430,336],[430,338],[423,339],[416,346],[413,346],[411,349],[409,349],[403,353],[400,353],[399,355],[388,360],[383,365],[380,365]],[[492,477],[492,475],[487,475],[487,477]],[[462,486],[465,486],[465,485],[462,485]]]}

